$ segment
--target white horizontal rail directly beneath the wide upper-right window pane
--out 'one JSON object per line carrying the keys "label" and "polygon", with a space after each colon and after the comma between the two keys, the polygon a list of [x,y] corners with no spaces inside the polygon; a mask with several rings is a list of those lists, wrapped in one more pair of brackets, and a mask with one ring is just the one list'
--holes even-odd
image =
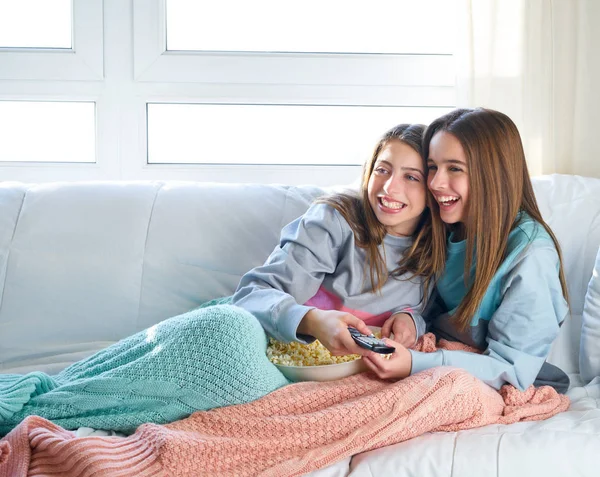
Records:
{"label": "white horizontal rail directly beneath the wide upper-right window pane", "polygon": [[[148,40],[136,41],[145,43]],[[155,57],[138,81],[452,86],[451,55],[313,55],[167,52]]]}

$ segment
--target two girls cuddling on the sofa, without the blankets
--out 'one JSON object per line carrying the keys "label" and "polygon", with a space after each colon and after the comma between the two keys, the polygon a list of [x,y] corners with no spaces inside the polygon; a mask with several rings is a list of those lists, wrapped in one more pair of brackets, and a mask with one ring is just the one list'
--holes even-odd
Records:
{"label": "two girls cuddling on the sofa, without the blankets", "polygon": [[[288,225],[233,303],[277,339],[315,337],[333,354],[362,354],[383,379],[447,365],[497,389],[535,383],[566,392],[568,377],[546,362],[568,314],[560,247],[538,209],[515,124],[486,109],[438,118],[423,138],[426,176],[416,138],[401,130],[378,144],[359,195],[325,199]],[[425,182],[429,207],[419,218]],[[386,315],[391,359],[358,348],[347,329],[369,333],[363,321],[379,325]],[[410,350],[426,322],[482,353]]]}

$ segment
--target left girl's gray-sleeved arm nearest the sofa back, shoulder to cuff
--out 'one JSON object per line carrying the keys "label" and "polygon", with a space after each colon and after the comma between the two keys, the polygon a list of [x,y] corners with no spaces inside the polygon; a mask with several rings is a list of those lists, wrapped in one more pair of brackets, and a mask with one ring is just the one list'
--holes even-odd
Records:
{"label": "left girl's gray-sleeved arm nearest the sofa back, shoulder to cuff", "polygon": [[296,329],[314,307],[302,303],[317,293],[325,274],[335,271],[339,249],[352,233],[341,220],[332,207],[316,204],[285,226],[265,264],[242,277],[233,304],[252,313],[274,338],[303,341]]}

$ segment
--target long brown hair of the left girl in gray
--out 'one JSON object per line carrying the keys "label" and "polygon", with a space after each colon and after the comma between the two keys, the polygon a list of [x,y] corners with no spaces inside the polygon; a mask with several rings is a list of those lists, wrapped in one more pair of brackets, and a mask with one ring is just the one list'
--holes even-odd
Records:
{"label": "long brown hair of the left girl in gray", "polygon": [[[341,192],[319,199],[319,202],[331,205],[342,214],[354,233],[356,244],[366,250],[366,266],[369,270],[373,293],[377,293],[388,279],[386,263],[379,250],[379,245],[383,242],[383,238],[387,232],[385,226],[377,219],[369,203],[369,179],[371,178],[379,154],[391,141],[401,141],[423,157],[422,139],[424,131],[425,126],[421,124],[399,124],[393,127],[381,137],[375,146],[373,154],[365,162],[362,171],[361,186],[358,192]],[[423,168],[426,170],[424,159]],[[435,278],[443,270],[443,250],[445,246],[442,237],[442,241],[437,246],[442,251],[440,254],[441,258],[437,262],[433,261],[431,259],[431,250],[434,245],[434,237],[431,233],[430,194],[427,192],[426,194],[428,196],[428,207],[423,211],[412,235],[413,243],[399,261],[398,267],[390,273],[392,276],[399,277],[410,272],[411,277],[423,277],[424,297],[428,296],[428,291]]]}

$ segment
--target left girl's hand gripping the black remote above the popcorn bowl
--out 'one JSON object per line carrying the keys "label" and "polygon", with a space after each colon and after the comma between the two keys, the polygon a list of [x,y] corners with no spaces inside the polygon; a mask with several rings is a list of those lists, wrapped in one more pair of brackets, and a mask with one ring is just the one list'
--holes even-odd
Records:
{"label": "left girl's hand gripping the black remote above the popcorn bowl", "polygon": [[304,315],[298,325],[297,333],[314,336],[334,356],[368,353],[369,350],[361,348],[354,342],[348,331],[349,326],[356,328],[361,333],[371,334],[370,328],[365,325],[364,321],[350,313],[317,308],[313,308]]}

